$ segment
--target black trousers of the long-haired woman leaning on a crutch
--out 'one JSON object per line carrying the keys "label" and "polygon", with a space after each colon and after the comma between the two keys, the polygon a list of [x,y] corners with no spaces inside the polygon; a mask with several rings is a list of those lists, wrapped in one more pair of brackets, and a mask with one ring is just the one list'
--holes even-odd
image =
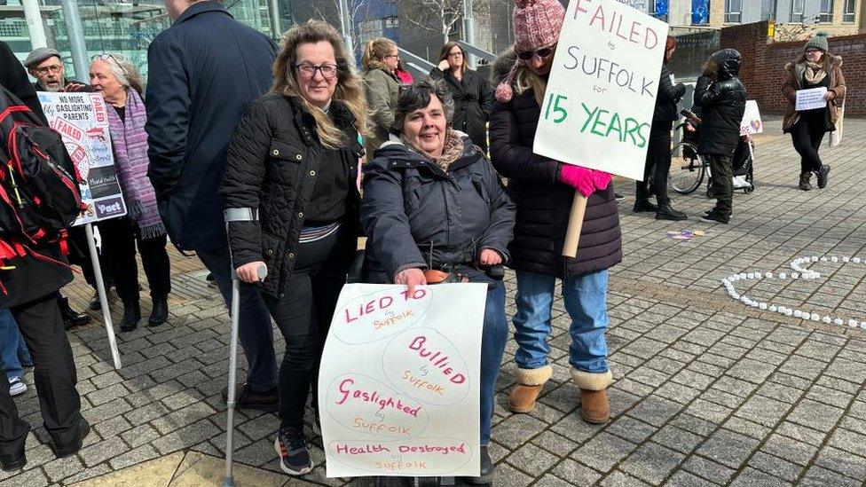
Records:
{"label": "black trousers of the long-haired woman leaning on a crutch", "polygon": [[300,244],[285,297],[262,295],[286,340],[279,365],[280,428],[303,428],[311,383],[313,404],[318,403],[319,361],[357,244],[347,226],[325,239]]}

